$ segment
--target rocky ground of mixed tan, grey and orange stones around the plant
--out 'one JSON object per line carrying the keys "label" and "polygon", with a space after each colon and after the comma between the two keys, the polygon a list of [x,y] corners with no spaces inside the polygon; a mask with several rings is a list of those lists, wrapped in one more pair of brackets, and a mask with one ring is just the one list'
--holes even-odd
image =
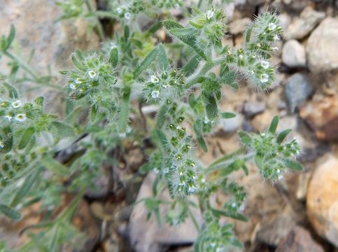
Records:
{"label": "rocky ground of mixed tan, grey and orange stones around the plant", "polygon": [[[97,6],[104,5],[98,1]],[[267,93],[256,92],[245,83],[239,92],[225,88],[222,109],[238,116],[220,125],[208,139],[211,151],[201,152],[199,157],[209,164],[234,151],[239,146],[237,130],[264,130],[275,115],[281,117],[280,129],[293,129],[304,147],[300,157],[304,172],[287,174],[274,186],[262,181],[253,165],[250,176],[233,175],[248,191],[244,214],[249,221],[226,221],[235,224],[246,251],[338,251],[337,8],[335,0],[237,0],[227,6],[232,21],[224,40],[234,46],[243,43],[246,25],[260,11],[281,14],[285,33],[273,59],[279,65],[278,83]],[[50,65],[55,83],[63,85],[58,71],[69,64],[70,53],[99,48],[99,38],[88,31],[86,20],[55,22],[60,15],[54,0],[0,1],[0,34],[7,34],[9,25],[15,25],[23,57],[35,50],[32,64],[41,72],[47,72]],[[165,39],[166,34],[160,30],[157,36]],[[6,62],[0,66],[6,70]],[[48,97],[47,107],[52,105],[62,114],[56,106],[60,100],[57,92],[42,92]],[[151,113],[153,108],[143,110]],[[192,223],[158,230],[153,219],[146,221],[141,204],[133,208],[136,197],[151,194],[154,178],[137,174],[145,159],[142,150],[131,145],[122,155],[119,175],[132,179],[123,187],[109,188],[102,176],[97,181],[101,192],[87,192],[80,204],[74,224],[88,236],[83,251],[190,251],[197,235]],[[64,205],[70,200],[64,195]],[[224,200],[224,195],[216,195],[213,202],[221,205]],[[19,231],[41,220],[38,209],[38,205],[27,209],[16,225],[1,219],[0,239],[11,246],[24,242],[27,237]],[[195,214],[200,220],[199,213]]]}

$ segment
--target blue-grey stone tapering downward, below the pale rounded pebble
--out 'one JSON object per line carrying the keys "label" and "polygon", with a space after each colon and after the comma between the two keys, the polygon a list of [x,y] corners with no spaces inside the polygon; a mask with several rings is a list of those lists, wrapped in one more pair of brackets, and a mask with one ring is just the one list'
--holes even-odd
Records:
{"label": "blue-grey stone tapering downward, below the pale rounded pebble", "polygon": [[286,81],[285,93],[288,106],[291,112],[307,101],[312,93],[312,86],[309,78],[301,73],[295,73]]}

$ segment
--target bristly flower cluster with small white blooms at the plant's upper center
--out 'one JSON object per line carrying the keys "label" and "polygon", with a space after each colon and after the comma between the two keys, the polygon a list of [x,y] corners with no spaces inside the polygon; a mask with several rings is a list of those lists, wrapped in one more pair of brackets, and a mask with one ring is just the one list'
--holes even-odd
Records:
{"label": "bristly flower cluster with small white blooms at the plant's upper center", "polygon": [[143,87],[147,101],[176,101],[185,94],[185,90],[185,78],[176,69],[151,74]]}

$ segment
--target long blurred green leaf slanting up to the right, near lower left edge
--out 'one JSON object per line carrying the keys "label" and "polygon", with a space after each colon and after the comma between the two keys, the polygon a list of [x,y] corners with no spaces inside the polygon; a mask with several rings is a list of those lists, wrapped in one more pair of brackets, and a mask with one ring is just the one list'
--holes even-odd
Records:
{"label": "long blurred green leaf slanting up to the right, near lower left edge", "polygon": [[23,202],[24,197],[29,193],[29,190],[31,190],[31,186],[34,185],[35,181],[38,179],[38,175],[43,170],[42,167],[38,164],[36,166],[32,165],[31,169],[35,169],[33,173],[31,173],[29,176],[24,179],[24,183],[22,183],[22,186],[17,190],[17,193],[13,197],[12,202],[10,202],[10,207],[16,207],[17,204],[20,202]]}

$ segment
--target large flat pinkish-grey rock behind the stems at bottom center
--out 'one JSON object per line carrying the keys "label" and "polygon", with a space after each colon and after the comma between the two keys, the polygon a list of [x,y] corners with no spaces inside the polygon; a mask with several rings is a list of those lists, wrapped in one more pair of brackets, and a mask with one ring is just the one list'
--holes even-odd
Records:
{"label": "large flat pinkish-grey rock behind the stems at bottom center", "polygon": [[[155,174],[149,173],[144,179],[139,190],[139,195],[136,202],[139,200],[153,196],[153,181]],[[160,195],[161,200],[170,200],[168,190]],[[160,205],[160,214],[162,220],[169,209],[169,205]],[[191,208],[192,213],[199,223],[202,223],[202,216],[195,208]],[[177,227],[170,227],[163,223],[162,229],[157,225],[157,221],[152,216],[148,221],[147,209],[143,202],[136,204],[132,210],[132,215],[129,219],[129,239],[136,252],[157,252],[162,251],[162,246],[192,244],[197,238],[197,230],[190,218],[187,218],[185,223],[181,223]]]}

